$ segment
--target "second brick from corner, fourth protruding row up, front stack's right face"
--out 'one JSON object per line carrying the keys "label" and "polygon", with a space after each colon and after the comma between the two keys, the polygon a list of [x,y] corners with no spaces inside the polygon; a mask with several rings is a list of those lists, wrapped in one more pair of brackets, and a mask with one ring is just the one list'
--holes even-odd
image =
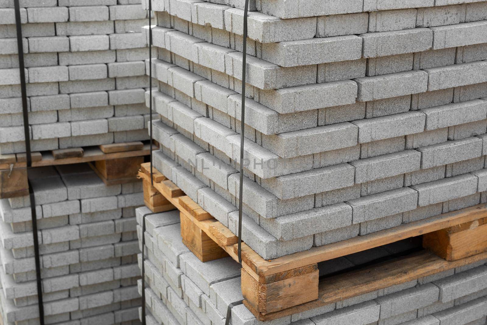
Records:
{"label": "second brick from corner, fourth protruding row up, front stack's right face", "polygon": [[[356,79],[359,101],[424,93],[428,76],[424,71],[400,72],[382,76],[368,76]],[[434,89],[428,89],[434,90]]]}

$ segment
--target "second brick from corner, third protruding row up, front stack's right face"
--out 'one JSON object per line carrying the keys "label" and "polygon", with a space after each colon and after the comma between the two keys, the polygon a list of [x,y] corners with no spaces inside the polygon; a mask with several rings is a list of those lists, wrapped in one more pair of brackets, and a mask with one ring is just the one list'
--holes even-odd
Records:
{"label": "second brick from corner, third protruding row up, front stack's right face", "polygon": [[354,121],[358,126],[358,142],[366,143],[424,131],[426,115],[407,112]]}

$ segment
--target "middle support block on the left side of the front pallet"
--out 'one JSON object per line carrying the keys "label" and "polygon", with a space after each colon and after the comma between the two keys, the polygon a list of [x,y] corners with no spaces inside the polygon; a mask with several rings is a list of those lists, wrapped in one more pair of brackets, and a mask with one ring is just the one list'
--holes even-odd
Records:
{"label": "middle support block on the left side of the front pallet", "polygon": [[[227,252],[215,243],[205,231],[196,226],[183,212],[181,219],[181,237],[183,244],[196,255],[200,261],[207,262],[227,257]],[[212,222],[211,220],[208,220]]]}

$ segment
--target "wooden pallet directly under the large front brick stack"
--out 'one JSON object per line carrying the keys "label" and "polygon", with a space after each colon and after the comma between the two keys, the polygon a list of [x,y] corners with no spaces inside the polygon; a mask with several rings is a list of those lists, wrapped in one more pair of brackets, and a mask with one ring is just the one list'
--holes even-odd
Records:
{"label": "wooden pallet directly under the large front brick stack", "polygon": [[[150,183],[149,168],[143,164],[138,176]],[[161,173],[154,176],[153,189],[180,211],[185,245],[204,262],[228,255],[238,261],[237,236],[162,177]],[[262,259],[242,243],[244,305],[260,321],[270,321],[484,260],[484,226],[487,205],[480,204],[274,260]],[[324,279],[318,277],[319,262],[425,234],[423,246],[427,249],[420,252]],[[447,260],[440,257],[441,251],[449,256]]]}

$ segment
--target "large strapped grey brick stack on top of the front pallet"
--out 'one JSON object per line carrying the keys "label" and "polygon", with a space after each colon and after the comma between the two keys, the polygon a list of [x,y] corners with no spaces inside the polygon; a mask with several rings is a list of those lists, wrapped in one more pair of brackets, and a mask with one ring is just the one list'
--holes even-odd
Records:
{"label": "large strapped grey brick stack on top of the front pallet", "polygon": [[[212,2],[152,1],[154,164],[236,234],[244,1]],[[251,8],[242,236],[264,259],[486,202],[486,1]]]}

